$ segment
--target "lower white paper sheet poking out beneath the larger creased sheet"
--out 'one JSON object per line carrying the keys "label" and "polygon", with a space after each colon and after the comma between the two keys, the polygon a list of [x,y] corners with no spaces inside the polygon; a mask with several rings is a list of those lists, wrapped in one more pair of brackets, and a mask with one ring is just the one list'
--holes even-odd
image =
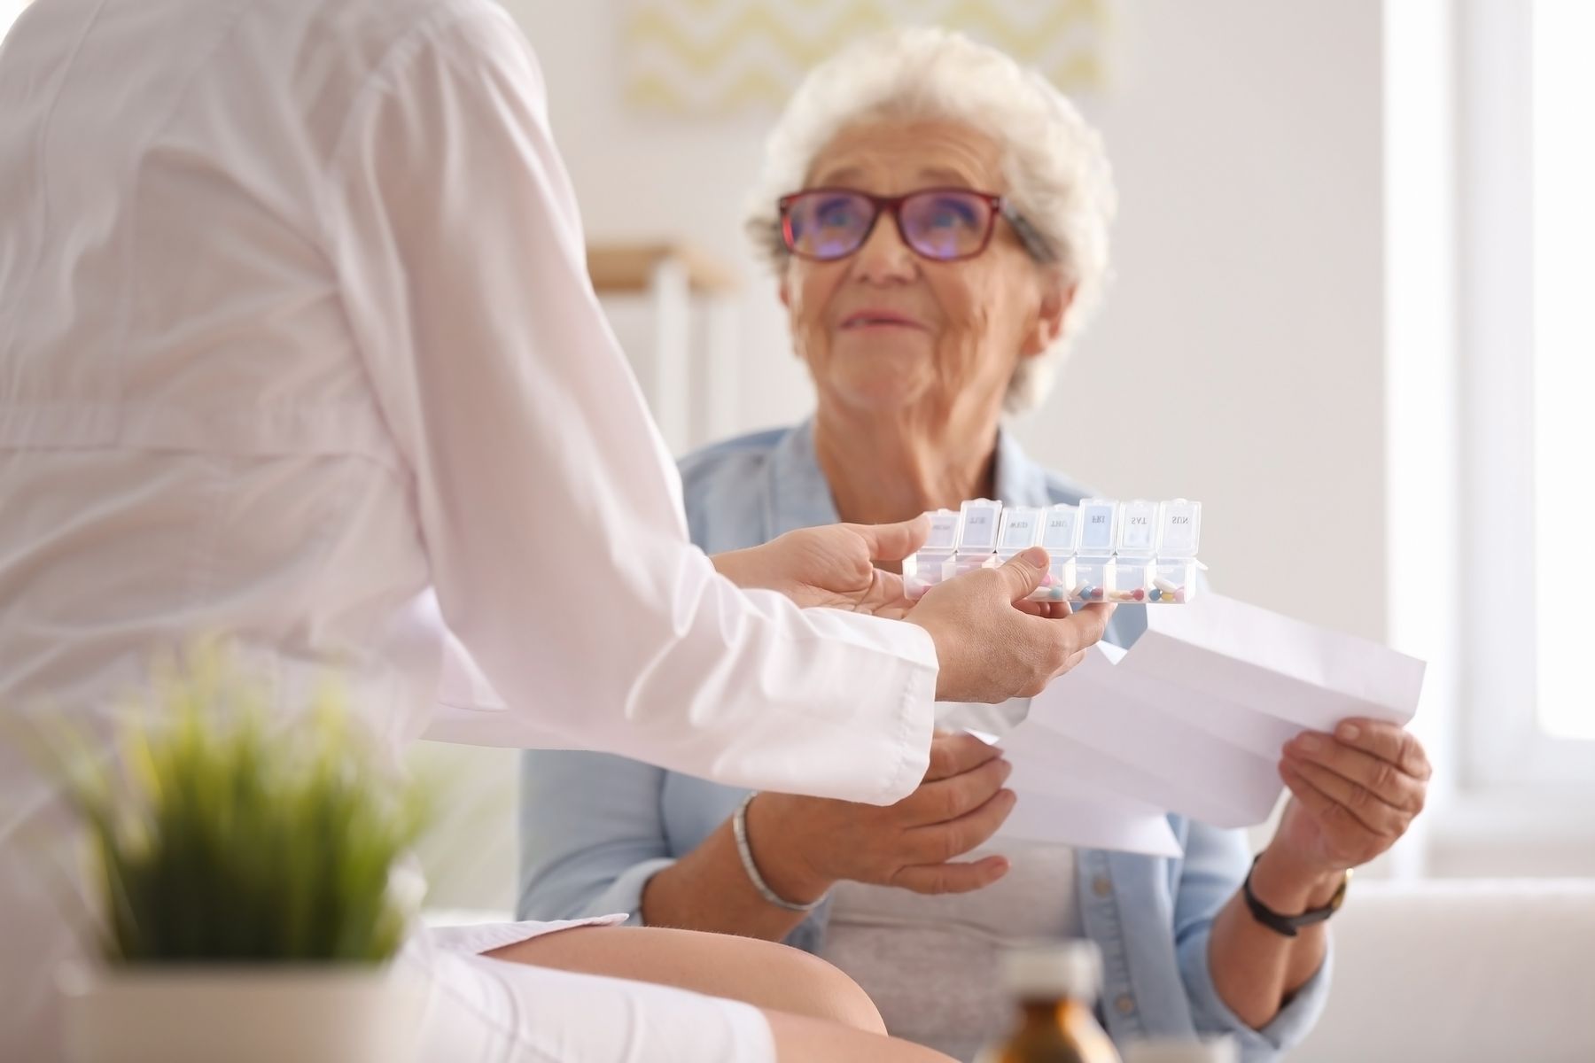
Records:
{"label": "lower white paper sheet poking out beneath the larger creased sheet", "polygon": [[1120,797],[1078,775],[1059,773],[1051,760],[1038,755],[1022,724],[1002,739],[965,730],[981,741],[1000,744],[1013,765],[1006,786],[1019,800],[995,838],[1180,856],[1179,838],[1160,808]]}

